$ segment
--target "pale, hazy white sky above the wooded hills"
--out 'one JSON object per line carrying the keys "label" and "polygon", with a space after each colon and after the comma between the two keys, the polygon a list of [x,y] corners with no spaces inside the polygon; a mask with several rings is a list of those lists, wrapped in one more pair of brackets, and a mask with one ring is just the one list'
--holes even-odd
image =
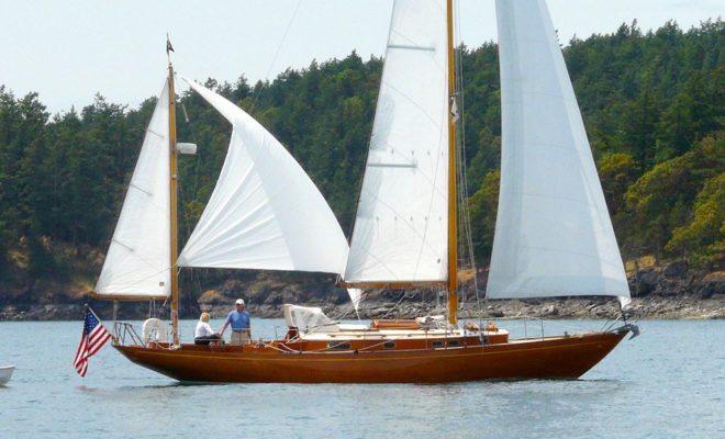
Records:
{"label": "pale, hazy white sky above the wooded hills", "polygon": [[[425,0],[420,0],[425,1]],[[81,110],[100,93],[137,108],[160,92],[166,35],[177,71],[250,83],[312,59],[382,56],[393,0],[0,0],[0,85],[31,91],[52,114]],[[548,0],[566,44],[637,20],[643,31],[674,20],[688,30],[725,18],[725,0]],[[460,0],[460,40],[494,41],[493,0]]]}

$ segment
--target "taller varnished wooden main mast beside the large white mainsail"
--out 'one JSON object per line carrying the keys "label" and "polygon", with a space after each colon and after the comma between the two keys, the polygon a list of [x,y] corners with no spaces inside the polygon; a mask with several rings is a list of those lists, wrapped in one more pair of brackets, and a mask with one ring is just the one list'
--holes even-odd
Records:
{"label": "taller varnished wooden main mast beside the large white mainsail", "polygon": [[[446,5],[448,30],[448,98],[453,110],[456,89],[454,86],[454,32],[453,0]],[[456,216],[456,126],[453,111],[448,111],[448,323],[455,325],[458,309],[458,240]]]}

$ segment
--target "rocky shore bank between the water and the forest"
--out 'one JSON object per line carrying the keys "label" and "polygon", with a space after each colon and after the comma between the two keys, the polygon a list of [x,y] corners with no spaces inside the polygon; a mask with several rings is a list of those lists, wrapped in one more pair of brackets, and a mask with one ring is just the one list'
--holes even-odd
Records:
{"label": "rocky shore bank between the water and the forest", "polygon": [[[222,317],[233,308],[236,297],[244,297],[255,317],[282,317],[281,305],[293,303],[320,306],[332,318],[355,318],[344,290],[324,283],[290,283],[282,281],[227,281],[219,289],[209,290],[200,297],[181,301],[181,317],[197,318],[201,311]],[[690,270],[684,262],[661,268],[637,270],[629,277],[632,304],[627,311],[634,319],[715,319],[725,318],[725,272],[702,273]],[[0,295],[3,297],[4,295]],[[25,300],[23,300],[25,299]],[[409,318],[440,314],[442,297],[435,292],[415,294],[395,291],[370,293],[361,304],[361,318]],[[31,291],[13,300],[0,299],[0,322],[3,320],[77,320],[83,315],[87,297],[69,297],[46,291]],[[112,304],[92,301],[102,316],[112,316]],[[168,315],[163,309],[160,315]],[[618,315],[618,303],[613,297],[578,297],[547,300],[477,300],[464,291],[459,316],[461,318],[612,318]],[[148,316],[148,303],[122,303],[119,319],[143,319]]]}

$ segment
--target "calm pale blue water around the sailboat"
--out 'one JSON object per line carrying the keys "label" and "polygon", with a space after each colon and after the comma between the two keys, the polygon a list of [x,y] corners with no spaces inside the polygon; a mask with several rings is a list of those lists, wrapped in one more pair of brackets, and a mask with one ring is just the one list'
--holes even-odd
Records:
{"label": "calm pale blue water around the sailboat", "polygon": [[[194,324],[182,323],[187,340]],[[255,337],[283,330],[253,325]],[[0,364],[18,367],[0,387],[0,438],[725,438],[725,320],[640,327],[578,381],[180,385],[110,346],[81,379],[80,320],[0,323]]]}

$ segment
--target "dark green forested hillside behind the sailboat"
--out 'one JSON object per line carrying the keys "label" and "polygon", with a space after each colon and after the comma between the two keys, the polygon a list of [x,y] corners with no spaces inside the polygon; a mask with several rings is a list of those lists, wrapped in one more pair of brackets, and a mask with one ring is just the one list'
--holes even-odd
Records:
{"label": "dark green forested hillside behind the sailboat", "polygon": [[[684,257],[722,269],[724,50],[722,20],[687,32],[667,23],[643,33],[633,23],[576,38],[565,49],[625,258]],[[460,54],[469,207],[476,258],[486,266],[501,145],[498,54],[494,44],[461,47]],[[290,149],[349,233],[381,68],[381,59],[353,53],[271,82],[249,85],[242,76],[207,86]],[[159,66],[159,91],[164,75]],[[98,95],[79,111],[51,115],[37,94],[15,97],[11,88],[0,87],[0,292],[37,279],[90,286],[155,99],[129,109]],[[179,101],[189,115],[186,123],[179,112],[179,140],[199,145],[197,156],[179,160],[183,240],[211,194],[230,126],[198,95],[182,93]]]}

